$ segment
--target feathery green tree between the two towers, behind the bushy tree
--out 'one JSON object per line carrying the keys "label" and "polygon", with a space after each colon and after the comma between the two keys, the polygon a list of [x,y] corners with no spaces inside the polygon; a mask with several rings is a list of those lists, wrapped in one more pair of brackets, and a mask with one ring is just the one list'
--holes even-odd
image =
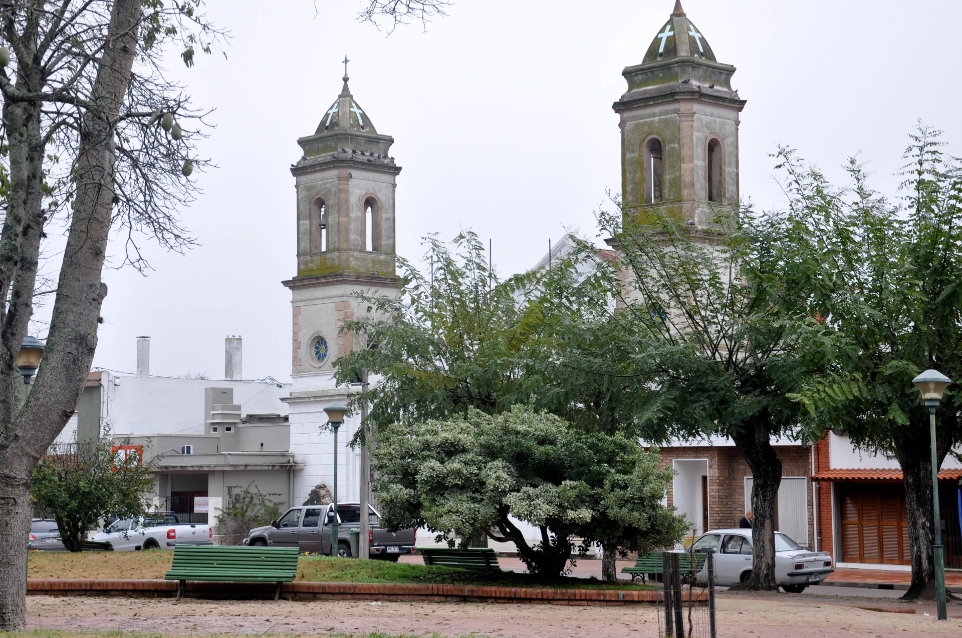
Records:
{"label": "feathery green tree between the two towers, behind the bushy tree", "polygon": [[[401,295],[359,295],[367,311],[342,327],[369,347],[338,359],[336,379],[380,378],[363,399],[367,427],[532,402],[573,414],[558,354],[570,331],[584,330],[592,313],[603,317],[607,305],[606,290],[579,275],[584,256],[502,281],[476,234],[459,234],[455,253],[434,235],[425,241],[431,272],[398,258]],[[361,403],[358,396],[351,406]]]}

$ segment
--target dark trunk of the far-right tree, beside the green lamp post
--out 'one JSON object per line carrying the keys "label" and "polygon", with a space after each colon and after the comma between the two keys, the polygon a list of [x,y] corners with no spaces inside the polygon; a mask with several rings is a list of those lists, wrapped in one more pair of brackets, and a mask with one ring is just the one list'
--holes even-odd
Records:
{"label": "dark trunk of the far-right tree, beside the green lamp post", "polygon": [[[905,601],[935,600],[935,562],[932,549],[935,545],[935,528],[932,525],[935,520],[932,511],[932,451],[928,424],[926,423],[925,426],[923,429],[916,427],[913,423],[911,428],[897,429],[893,437],[899,466],[904,477],[908,540],[912,555],[912,584],[901,597]],[[937,434],[936,458],[940,466],[951,447],[949,438],[942,435],[946,430],[941,428]],[[953,598],[951,594],[948,596],[949,599]]]}

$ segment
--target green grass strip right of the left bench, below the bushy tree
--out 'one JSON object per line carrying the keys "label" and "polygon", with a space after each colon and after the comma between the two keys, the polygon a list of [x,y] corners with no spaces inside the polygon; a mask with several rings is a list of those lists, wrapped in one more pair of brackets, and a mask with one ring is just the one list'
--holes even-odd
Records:
{"label": "green grass strip right of the left bench, below the bushy tree", "polygon": [[515,572],[480,572],[435,565],[411,565],[387,560],[354,560],[330,556],[301,556],[297,580],[321,582],[396,582],[444,585],[495,585],[555,589],[653,589],[627,582],[608,584],[594,578],[545,578]]}

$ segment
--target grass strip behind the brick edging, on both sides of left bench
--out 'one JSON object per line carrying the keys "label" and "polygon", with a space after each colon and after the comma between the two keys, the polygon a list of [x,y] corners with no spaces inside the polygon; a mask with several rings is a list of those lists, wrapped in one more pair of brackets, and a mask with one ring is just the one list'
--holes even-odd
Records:
{"label": "grass strip behind the brick edging, on both sides of left bench", "polygon": [[[32,578],[163,578],[174,552],[30,552]],[[388,560],[356,560],[301,556],[296,580],[320,582],[394,582],[444,585],[495,585],[557,589],[652,589],[621,581],[608,584],[594,578],[544,578],[514,572],[479,572]]]}

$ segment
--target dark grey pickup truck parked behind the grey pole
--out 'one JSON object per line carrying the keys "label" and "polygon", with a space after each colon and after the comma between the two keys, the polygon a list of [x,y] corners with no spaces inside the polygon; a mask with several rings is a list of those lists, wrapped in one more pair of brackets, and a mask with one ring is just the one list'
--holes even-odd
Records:
{"label": "dark grey pickup truck parked behind the grey pole", "polygon": [[[338,555],[351,555],[350,529],[361,527],[361,503],[338,503]],[[381,515],[368,505],[367,546],[371,558],[397,561],[398,557],[414,553],[417,531],[414,528],[391,532],[379,525]],[[284,516],[263,528],[251,529],[244,545],[296,547],[301,552],[331,553],[331,526],[334,524],[334,505],[304,505],[291,507]],[[365,539],[358,539],[364,542]]]}

